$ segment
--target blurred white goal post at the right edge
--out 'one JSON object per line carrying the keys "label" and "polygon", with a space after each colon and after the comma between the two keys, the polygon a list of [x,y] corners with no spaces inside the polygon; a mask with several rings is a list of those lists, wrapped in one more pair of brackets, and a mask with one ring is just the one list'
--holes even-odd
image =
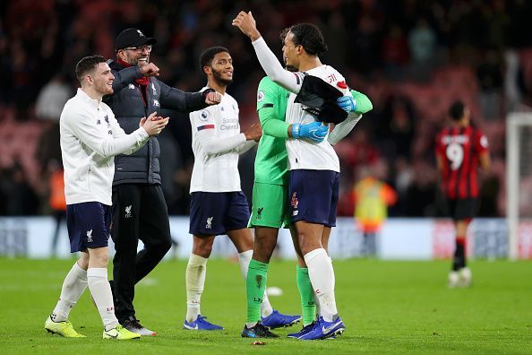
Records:
{"label": "blurred white goal post at the right edge", "polygon": [[532,217],[527,212],[532,206],[532,192],[522,191],[529,185],[524,181],[532,178],[532,112],[511,112],[506,117],[506,164],[508,250],[510,259],[517,260],[521,218]]}

